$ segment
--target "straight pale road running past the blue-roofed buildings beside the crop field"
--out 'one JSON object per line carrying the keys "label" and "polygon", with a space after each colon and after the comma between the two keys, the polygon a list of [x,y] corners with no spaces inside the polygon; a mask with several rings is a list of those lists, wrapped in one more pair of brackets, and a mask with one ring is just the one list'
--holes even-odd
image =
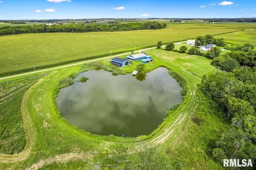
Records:
{"label": "straight pale road running past the blue-roofed buildings beside the crop field", "polygon": [[[186,41],[185,41],[186,42]],[[183,42],[178,42],[178,43],[174,43],[174,44],[181,44]],[[182,44],[182,45],[185,45],[185,44]],[[163,45],[162,47],[164,47],[166,45]],[[145,48],[145,49],[140,49],[140,50],[136,50],[134,52],[139,52],[139,51],[146,51],[146,50],[149,50],[149,49],[154,49],[156,47],[150,47],[150,48]],[[82,62],[79,62],[79,63],[74,63],[74,64],[69,64],[69,65],[63,65],[63,66],[59,66],[59,67],[54,67],[54,68],[49,68],[49,69],[41,69],[41,70],[38,70],[38,71],[33,71],[33,72],[28,72],[28,73],[21,73],[21,74],[16,74],[16,75],[10,75],[8,77],[2,77],[0,78],[0,80],[3,80],[3,79],[9,79],[9,78],[13,78],[13,77],[19,77],[19,76],[22,76],[22,75],[28,75],[28,74],[33,74],[33,73],[40,73],[40,72],[44,72],[44,71],[51,71],[51,70],[54,70],[54,69],[60,69],[60,68],[65,68],[65,67],[71,67],[71,66],[74,66],[74,65],[80,65],[80,64],[84,64],[84,63],[90,63],[90,62],[93,62],[93,61],[99,61],[99,60],[102,60],[102,59],[108,59],[108,58],[113,58],[113,57],[118,57],[118,56],[121,56],[121,55],[128,55],[130,54],[130,52],[127,52],[127,53],[121,53],[121,54],[117,54],[117,55],[112,55],[110,57],[103,57],[103,58],[99,58],[99,59],[93,59],[93,60],[89,60],[89,61],[82,61]]]}

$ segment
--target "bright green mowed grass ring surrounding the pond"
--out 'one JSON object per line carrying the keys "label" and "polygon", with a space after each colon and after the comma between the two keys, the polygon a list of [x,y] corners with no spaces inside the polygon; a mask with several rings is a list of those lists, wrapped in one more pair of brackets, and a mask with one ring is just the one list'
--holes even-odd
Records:
{"label": "bright green mowed grass ring surrounding the pond", "polygon": [[[212,160],[204,145],[196,146],[196,150],[200,150],[197,154],[196,150],[188,152],[190,149],[181,148],[181,144],[191,146],[190,142],[204,141],[201,138],[204,138],[205,134],[202,134],[201,131],[207,128],[208,130],[214,128],[216,132],[222,132],[225,127],[225,123],[218,121],[214,114],[205,114],[200,110],[194,110],[196,103],[198,103],[198,108],[201,108],[207,102],[209,102],[209,107],[211,106],[210,101],[204,101],[203,97],[199,99],[196,97],[200,77],[215,70],[210,65],[211,59],[162,49],[152,49],[147,52],[152,55],[154,62],[148,64],[146,70],[152,70],[159,66],[172,69],[186,79],[188,88],[186,99],[182,105],[173,115],[170,115],[161,128],[153,132],[154,135],[149,135],[148,140],[141,140],[146,136],[122,138],[93,135],[70,125],[60,117],[52,97],[53,89],[61,79],[78,71],[81,66],[67,67],[53,71],[26,91],[21,102],[21,111],[28,143],[20,154],[0,154],[0,169],[105,168],[108,167],[108,164],[118,166],[116,160],[108,158],[110,154],[116,152],[121,156],[128,152],[128,157],[125,159],[139,161],[137,164],[140,163],[140,155],[148,154],[145,158],[151,160],[153,167],[165,166],[166,162],[170,162],[168,167],[173,168],[177,164],[176,161],[183,161],[184,164],[179,164],[178,167],[189,169],[195,167],[196,162],[204,162],[204,164],[199,164],[197,167],[220,169],[221,166]],[[108,63],[108,61],[107,59],[104,60],[105,63]],[[124,70],[130,72],[134,69],[134,65],[136,63],[125,67]],[[194,117],[194,115],[202,117],[202,126],[197,126],[190,115],[191,117]],[[185,124],[186,128],[184,128]],[[174,127],[173,133],[170,133],[172,130],[167,130],[169,127]],[[182,134],[180,133],[181,130]],[[197,135],[190,136],[191,130]],[[218,133],[207,134],[208,140],[206,142],[215,140],[216,134]],[[188,137],[191,140],[184,140]],[[183,142],[180,143],[179,141]],[[152,148],[147,149],[144,146]],[[132,152],[132,150],[135,152]],[[180,152],[180,154],[177,152]],[[195,155],[195,160],[186,158],[191,154]],[[161,165],[156,161],[159,155],[161,155],[161,158],[166,158],[164,162],[161,162],[163,163]]]}

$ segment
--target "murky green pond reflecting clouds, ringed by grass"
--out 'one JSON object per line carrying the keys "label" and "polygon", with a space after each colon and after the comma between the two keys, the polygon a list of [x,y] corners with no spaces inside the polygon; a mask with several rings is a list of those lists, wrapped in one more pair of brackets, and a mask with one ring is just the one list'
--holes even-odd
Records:
{"label": "murky green pond reflecting clouds, ringed by grass", "polygon": [[[89,77],[85,83],[75,81]],[[74,85],[60,89],[56,98],[62,117],[93,134],[148,135],[166,118],[165,112],[182,103],[181,87],[168,70],[113,76],[90,70],[74,78]]]}

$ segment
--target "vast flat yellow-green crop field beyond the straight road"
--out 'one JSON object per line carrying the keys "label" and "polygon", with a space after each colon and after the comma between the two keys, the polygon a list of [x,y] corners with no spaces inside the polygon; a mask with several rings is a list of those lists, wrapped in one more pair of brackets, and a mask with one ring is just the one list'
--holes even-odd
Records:
{"label": "vast flat yellow-green crop field beyond the straight road", "polygon": [[162,30],[137,30],[126,32],[90,33],[40,33],[0,37],[0,75],[6,72],[37,67],[49,67],[56,63],[86,59],[132,51],[149,45],[178,42],[206,34],[220,34],[242,30],[250,23],[205,24],[168,23]]}

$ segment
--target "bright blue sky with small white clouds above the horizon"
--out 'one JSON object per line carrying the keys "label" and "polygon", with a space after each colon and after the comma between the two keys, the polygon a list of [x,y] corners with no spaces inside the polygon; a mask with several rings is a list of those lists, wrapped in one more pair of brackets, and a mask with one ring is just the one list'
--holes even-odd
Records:
{"label": "bright blue sky with small white clouds above the horizon", "polygon": [[0,0],[0,20],[256,18],[256,0]]}

